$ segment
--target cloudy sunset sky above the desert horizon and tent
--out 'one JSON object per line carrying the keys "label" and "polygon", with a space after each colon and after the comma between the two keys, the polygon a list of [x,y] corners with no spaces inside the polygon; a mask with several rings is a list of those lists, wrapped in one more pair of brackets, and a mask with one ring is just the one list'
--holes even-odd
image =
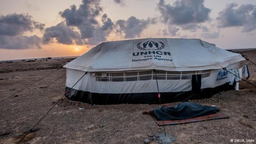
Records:
{"label": "cloudy sunset sky above the desert horizon and tent", "polygon": [[104,41],[256,48],[256,0],[1,0],[0,60],[80,56]]}

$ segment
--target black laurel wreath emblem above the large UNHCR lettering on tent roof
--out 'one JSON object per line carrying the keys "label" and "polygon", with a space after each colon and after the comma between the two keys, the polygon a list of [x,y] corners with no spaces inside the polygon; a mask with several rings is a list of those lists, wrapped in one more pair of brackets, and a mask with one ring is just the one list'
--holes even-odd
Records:
{"label": "black laurel wreath emblem above the large UNHCR lettering on tent roof", "polygon": [[161,41],[154,42],[154,41],[146,41],[145,43],[139,42],[137,43],[137,48],[141,49],[141,50],[150,50],[150,49],[156,49],[156,50],[160,50],[165,48],[165,44]]}

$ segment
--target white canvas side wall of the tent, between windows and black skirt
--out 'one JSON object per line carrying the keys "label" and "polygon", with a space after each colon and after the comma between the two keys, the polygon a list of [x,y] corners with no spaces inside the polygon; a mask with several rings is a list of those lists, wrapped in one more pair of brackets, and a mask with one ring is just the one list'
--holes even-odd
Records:
{"label": "white canvas side wall of the tent, between windows and black skirt", "polygon": [[[227,69],[237,69],[239,62],[231,64]],[[71,88],[84,75],[84,71],[67,69],[66,87]],[[213,70],[209,77],[202,78],[201,88],[214,88],[228,82],[222,69]],[[223,79],[221,78],[223,77]],[[187,92],[191,91],[191,79],[189,80],[158,80],[160,92]],[[73,87],[75,90],[92,93],[145,93],[157,92],[156,80],[130,81],[130,82],[100,82],[96,81],[93,73],[87,73]]]}

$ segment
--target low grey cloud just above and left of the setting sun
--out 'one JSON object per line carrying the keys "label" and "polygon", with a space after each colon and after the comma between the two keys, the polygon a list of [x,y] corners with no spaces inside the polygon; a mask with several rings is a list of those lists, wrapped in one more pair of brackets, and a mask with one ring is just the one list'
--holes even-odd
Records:
{"label": "low grey cloud just above and left of the setting sun", "polygon": [[48,44],[52,42],[53,38],[55,38],[58,43],[66,45],[73,43],[81,45],[83,43],[78,31],[75,31],[72,27],[66,26],[64,22],[45,29],[43,43]]}

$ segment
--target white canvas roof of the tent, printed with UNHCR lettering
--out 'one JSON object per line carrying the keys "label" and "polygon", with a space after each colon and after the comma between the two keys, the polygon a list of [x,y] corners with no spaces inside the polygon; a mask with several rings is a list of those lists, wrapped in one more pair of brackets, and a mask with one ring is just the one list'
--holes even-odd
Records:
{"label": "white canvas roof of the tent, printed with UNHCR lettering", "polygon": [[100,43],[64,67],[81,71],[221,69],[245,60],[241,54],[200,39],[131,39]]}

